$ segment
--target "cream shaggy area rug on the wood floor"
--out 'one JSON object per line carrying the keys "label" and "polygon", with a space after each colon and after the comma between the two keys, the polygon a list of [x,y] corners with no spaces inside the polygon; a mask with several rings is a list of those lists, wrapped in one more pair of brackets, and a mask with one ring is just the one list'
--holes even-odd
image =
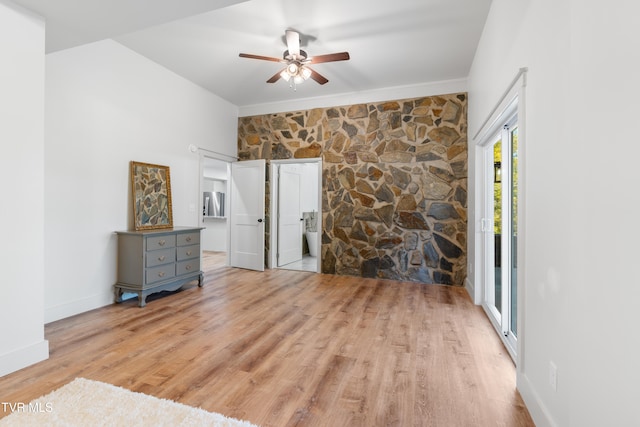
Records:
{"label": "cream shaggy area rug on the wood floor", "polygon": [[20,408],[13,405],[12,413],[0,419],[0,426],[256,427],[246,421],[84,378],[76,378]]}

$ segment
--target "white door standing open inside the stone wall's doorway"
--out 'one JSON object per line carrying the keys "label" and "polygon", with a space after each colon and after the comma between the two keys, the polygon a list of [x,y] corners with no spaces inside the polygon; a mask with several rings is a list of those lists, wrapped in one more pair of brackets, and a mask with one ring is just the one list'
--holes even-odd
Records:
{"label": "white door standing open inside the stone wall's doorway", "polygon": [[302,259],[301,171],[281,165],[278,173],[278,267]]}

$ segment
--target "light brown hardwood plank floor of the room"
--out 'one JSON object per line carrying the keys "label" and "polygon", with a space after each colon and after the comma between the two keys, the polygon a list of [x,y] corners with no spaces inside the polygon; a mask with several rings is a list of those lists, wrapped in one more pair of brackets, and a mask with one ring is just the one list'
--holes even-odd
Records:
{"label": "light brown hardwood plank floor of the room", "polygon": [[205,253],[202,288],[46,325],[50,358],[0,378],[0,401],[83,377],[263,427],[533,425],[463,289],[223,263]]}

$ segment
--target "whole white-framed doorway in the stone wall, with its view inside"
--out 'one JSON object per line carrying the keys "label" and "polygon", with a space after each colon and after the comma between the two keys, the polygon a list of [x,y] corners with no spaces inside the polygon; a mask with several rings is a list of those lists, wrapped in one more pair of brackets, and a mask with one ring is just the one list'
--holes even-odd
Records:
{"label": "whole white-framed doorway in the stone wall, with its view inside", "polygon": [[271,161],[270,268],[320,272],[322,160]]}

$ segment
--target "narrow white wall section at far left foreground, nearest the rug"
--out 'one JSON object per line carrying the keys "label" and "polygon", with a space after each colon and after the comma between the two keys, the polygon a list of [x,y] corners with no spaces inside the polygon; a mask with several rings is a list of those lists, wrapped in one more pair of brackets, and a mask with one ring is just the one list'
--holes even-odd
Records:
{"label": "narrow white wall section at far left foreground, nearest the rug", "polygon": [[0,376],[44,339],[44,21],[0,0]]}

